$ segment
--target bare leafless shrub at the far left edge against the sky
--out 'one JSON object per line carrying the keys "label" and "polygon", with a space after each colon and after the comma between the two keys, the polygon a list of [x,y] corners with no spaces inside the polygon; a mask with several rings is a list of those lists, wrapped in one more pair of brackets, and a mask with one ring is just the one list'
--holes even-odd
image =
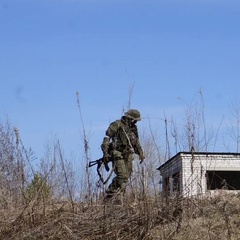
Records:
{"label": "bare leafless shrub at the far left edge against the sky", "polygon": [[18,129],[9,121],[0,124],[0,208],[8,208],[24,202],[23,190],[32,176],[31,161],[34,154],[27,151]]}

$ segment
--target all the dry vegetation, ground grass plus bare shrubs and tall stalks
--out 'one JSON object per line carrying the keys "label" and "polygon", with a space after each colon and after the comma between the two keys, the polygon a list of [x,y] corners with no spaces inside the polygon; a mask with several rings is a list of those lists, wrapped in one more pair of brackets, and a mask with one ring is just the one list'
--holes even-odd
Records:
{"label": "all the dry vegetation, ground grass plus bare shrubs and tall stalks", "polygon": [[[186,199],[160,192],[156,168],[171,155],[169,132],[176,151],[192,147],[207,151],[210,140],[214,142],[214,134],[206,134],[203,102],[200,110],[194,106],[187,109],[182,136],[175,122],[169,129],[164,119],[164,154],[150,128],[151,137],[143,136],[147,160],[141,165],[136,161],[125,195],[109,202],[103,201],[106,186],[95,186],[96,172],[88,168],[84,124],[81,166],[86,168],[77,177],[58,140],[33,164],[34,153],[25,149],[18,129],[8,122],[0,124],[0,239],[240,239],[240,195],[220,191],[212,197]],[[79,99],[78,107],[82,121]]]}

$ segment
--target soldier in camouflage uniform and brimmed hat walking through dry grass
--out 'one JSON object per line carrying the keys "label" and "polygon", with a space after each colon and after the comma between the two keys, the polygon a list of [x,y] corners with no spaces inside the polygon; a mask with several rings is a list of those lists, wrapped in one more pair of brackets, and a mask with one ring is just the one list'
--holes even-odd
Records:
{"label": "soldier in camouflage uniform and brimmed hat walking through dry grass", "polygon": [[141,120],[136,109],[127,111],[121,119],[110,124],[101,145],[104,161],[111,157],[116,176],[107,188],[107,196],[111,197],[118,190],[125,190],[126,183],[132,173],[134,153],[144,160],[143,150],[139,143],[137,121]]}

